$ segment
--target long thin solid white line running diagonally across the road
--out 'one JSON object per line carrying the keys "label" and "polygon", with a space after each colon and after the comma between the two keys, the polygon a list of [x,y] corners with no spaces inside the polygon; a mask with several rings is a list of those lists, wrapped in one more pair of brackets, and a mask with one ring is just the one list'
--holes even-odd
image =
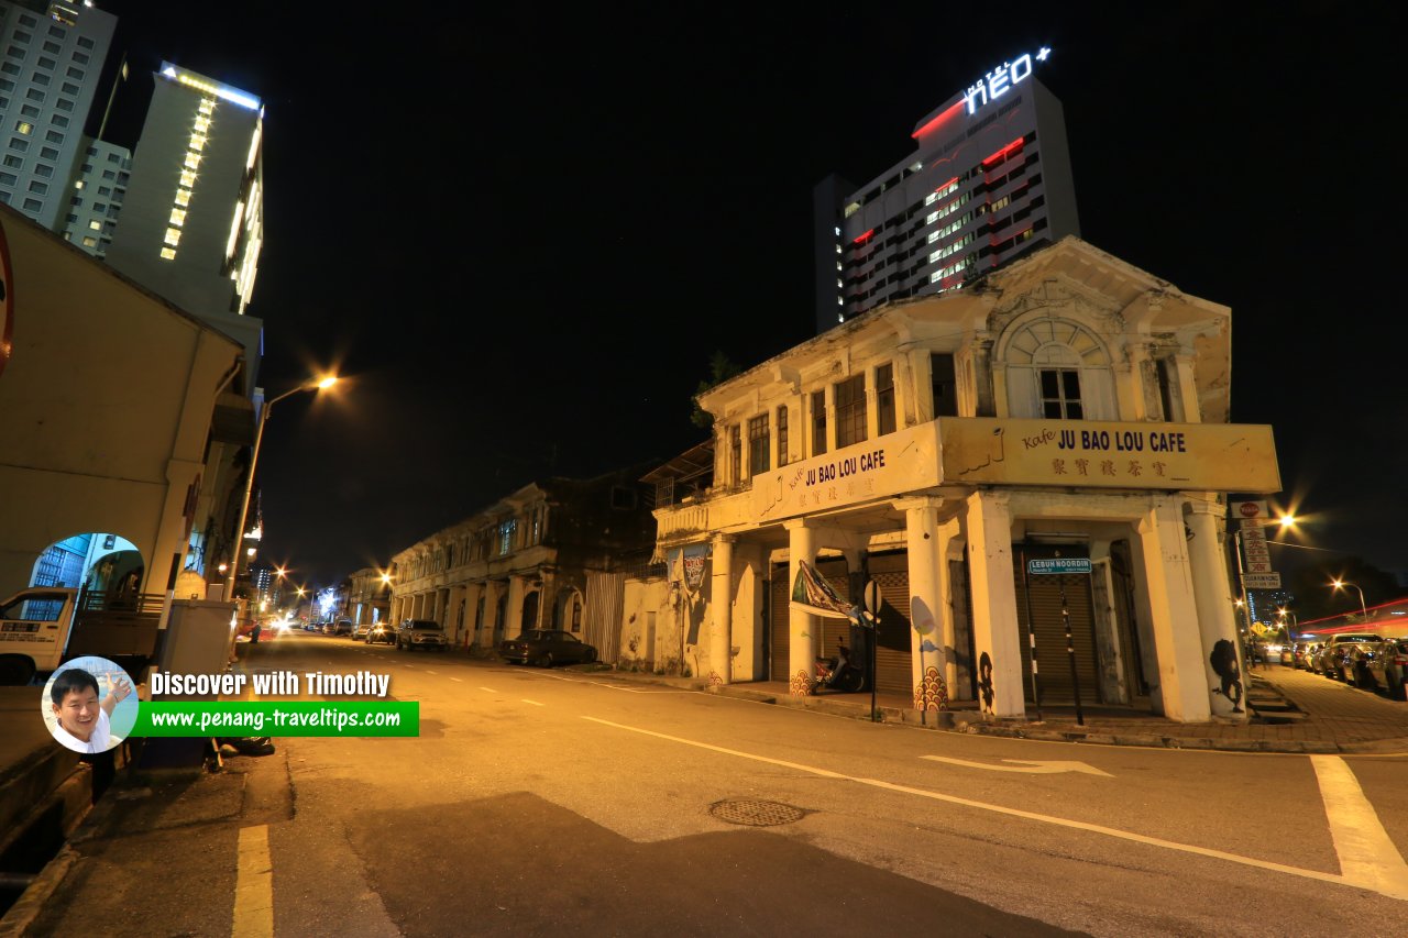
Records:
{"label": "long thin solid white line running diagonally across the road", "polygon": [[1352,886],[1354,889],[1370,889],[1376,893],[1388,896],[1390,899],[1405,899],[1408,900],[1408,887],[1402,890],[1387,892],[1378,886],[1376,877],[1374,882],[1363,882],[1353,879],[1342,873],[1322,873],[1315,869],[1301,869],[1298,866],[1287,866],[1284,863],[1273,863],[1270,861],[1259,861],[1252,856],[1238,856],[1236,853],[1226,853],[1224,851],[1209,849],[1207,846],[1195,846],[1193,844],[1178,844],[1177,841],[1166,841],[1157,837],[1145,837],[1143,834],[1132,834],[1129,831],[1121,831],[1114,827],[1102,827],[1100,824],[1087,824],[1086,821],[1073,821],[1064,817],[1052,817],[1049,814],[1036,814],[1035,811],[1024,811],[1021,808],[1011,808],[1001,804],[988,804],[986,801],[974,801],[973,799],[962,799],[956,794],[943,794],[941,792],[926,792],[924,789],[914,789],[905,784],[894,784],[893,782],[881,782],[880,779],[862,779],[853,775],[842,775],[841,772],[832,772],[829,769],[818,769],[810,765],[801,765],[800,762],[787,762],[784,759],[772,759],[769,756],[755,755],[752,752],[739,752],[738,749],[725,749],[724,746],[715,746],[708,742],[697,742],[694,739],[681,739],[680,737],[672,737],[663,732],[655,732],[652,730],[641,730],[639,727],[628,727],[621,723],[611,723],[610,720],[598,720],[597,717],[582,717],[583,720],[590,720],[591,723],[600,723],[604,727],[615,727],[617,730],[625,730],[628,732],[639,732],[641,735],[655,737],[656,739],[669,739],[670,742],[679,742],[687,746],[694,746],[697,749],[708,749],[711,752],[721,752],[724,755],[738,756],[741,759],[752,759],[753,762],[766,762],[767,765],[779,765],[787,769],[797,769],[798,772],[807,772],[810,775],[818,775],[824,779],[842,779],[846,782],[856,782],[859,784],[869,784],[877,789],[884,789],[887,792],[898,792],[900,794],[914,794],[924,799],[931,799],[934,801],[946,801],[949,804],[960,804],[963,807],[977,808],[980,811],[991,811],[994,814],[1005,814],[1008,817],[1019,817],[1028,821],[1039,821],[1042,824],[1053,824],[1056,827],[1066,827],[1077,831],[1088,831],[1091,834],[1104,834],[1105,837],[1114,837],[1121,841],[1132,841],[1135,844],[1145,844],[1148,846],[1162,846],[1163,849],[1177,851],[1180,853],[1195,853],[1198,856],[1209,856],[1212,859],[1222,859],[1231,863],[1242,863],[1243,866],[1255,866],[1257,869],[1267,869],[1277,873],[1288,873],[1291,876],[1301,876],[1304,879],[1315,879],[1324,883],[1338,883],[1340,886]]}

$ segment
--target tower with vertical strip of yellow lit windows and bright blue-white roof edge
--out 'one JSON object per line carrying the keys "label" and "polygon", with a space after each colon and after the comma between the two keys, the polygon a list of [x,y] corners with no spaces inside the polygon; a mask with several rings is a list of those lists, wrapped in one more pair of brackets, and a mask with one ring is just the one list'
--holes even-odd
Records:
{"label": "tower with vertical strip of yellow lit windows and bright blue-white roof edge", "polygon": [[153,77],[107,262],[220,325],[244,314],[259,262],[263,106],[169,62]]}

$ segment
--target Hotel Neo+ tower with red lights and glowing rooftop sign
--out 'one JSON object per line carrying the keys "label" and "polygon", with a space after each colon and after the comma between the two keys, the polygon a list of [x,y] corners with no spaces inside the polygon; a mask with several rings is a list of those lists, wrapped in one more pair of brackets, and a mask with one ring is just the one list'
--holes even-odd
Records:
{"label": "Hotel Neo+ tower with red lights and glowing rooftop sign", "polygon": [[926,114],[914,155],[865,186],[817,186],[818,334],[1080,234],[1060,101],[1032,77],[1049,54],[1005,62]]}

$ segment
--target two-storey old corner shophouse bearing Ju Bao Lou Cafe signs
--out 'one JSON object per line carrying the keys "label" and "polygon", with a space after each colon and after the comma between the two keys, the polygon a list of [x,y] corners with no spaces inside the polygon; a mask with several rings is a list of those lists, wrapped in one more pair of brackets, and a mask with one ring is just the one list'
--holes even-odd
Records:
{"label": "two-storey old corner shophouse bearing Ju Bao Lou Cafe signs", "polygon": [[807,693],[848,624],[790,604],[805,561],[877,584],[876,683],[917,706],[1022,715],[1035,646],[1045,701],[1238,717],[1225,493],[1280,480],[1229,390],[1226,307],[1073,237],[872,310],[700,396],[712,484],[656,510],[627,639],[679,620],[696,673]]}

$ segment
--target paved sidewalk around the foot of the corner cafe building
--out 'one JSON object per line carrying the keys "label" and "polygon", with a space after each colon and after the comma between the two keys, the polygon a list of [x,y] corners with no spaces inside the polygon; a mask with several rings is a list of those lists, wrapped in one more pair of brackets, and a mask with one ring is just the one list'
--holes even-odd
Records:
{"label": "paved sidewalk around the foot of the corner cafe building", "polygon": [[[614,675],[705,689],[697,679]],[[886,723],[1018,739],[1233,752],[1408,753],[1408,703],[1281,665],[1259,668],[1247,675],[1246,684],[1249,718],[1245,721],[1174,723],[1128,707],[1086,706],[1084,725],[1080,725],[1069,703],[1045,706],[1042,720],[1031,707],[1026,720],[993,720],[984,718],[973,701],[960,700],[946,711],[922,713],[914,710],[908,697],[893,693],[877,694],[876,710]],[[784,682],[725,684],[715,693],[857,720],[870,713],[867,693],[793,697]]]}

